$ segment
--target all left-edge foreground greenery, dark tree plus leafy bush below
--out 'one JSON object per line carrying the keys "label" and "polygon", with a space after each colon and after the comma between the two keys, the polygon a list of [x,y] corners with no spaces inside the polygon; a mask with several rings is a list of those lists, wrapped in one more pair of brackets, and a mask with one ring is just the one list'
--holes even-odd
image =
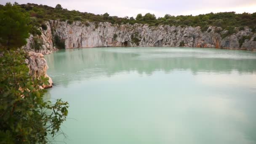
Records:
{"label": "all left-edge foreground greenery, dark tree plus leafy bush below", "polygon": [[0,8],[0,144],[48,143],[62,133],[67,102],[44,101],[48,78],[29,75],[26,53],[17,51],[29,35],[29,16],[17,4]]}

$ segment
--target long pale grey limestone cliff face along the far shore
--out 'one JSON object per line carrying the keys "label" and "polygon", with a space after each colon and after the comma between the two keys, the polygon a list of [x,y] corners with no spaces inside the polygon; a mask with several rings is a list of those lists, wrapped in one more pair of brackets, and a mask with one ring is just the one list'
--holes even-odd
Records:
{"label": "long pale grey limestone cliff face along the far shore", "polygon": [[[202,32],[200,27],[170,27],[168,25],[149,27],[147,24],[111,24],[101,22],[95,24],[88,22],[83,24],[75,21],[68,24],[63,21],[50,21],[52,35],[57,35],[65,41],[66,48],[88,48],[88,47],[117,47],[117,46],[185,46],[185,47],[212,47],[256,50],[255,34],[251,29],[239,31],[221,38],[220,33],[215,32],[217,27],[209,27]],[[243,36],[249,36],[240,45],[239,40]],[[53,37],[53,36],[51,36]]]}

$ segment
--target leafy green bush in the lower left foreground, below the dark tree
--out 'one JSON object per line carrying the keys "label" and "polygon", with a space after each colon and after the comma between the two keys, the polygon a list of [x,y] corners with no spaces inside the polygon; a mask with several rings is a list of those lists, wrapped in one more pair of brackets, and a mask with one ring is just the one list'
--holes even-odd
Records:
{"label": "leafy green bush in the lower left foreground, below the dark tree", "polygon": [[44,101],[48,78],[32,80],[25,53],[5,51],[0,57],[0,141],[3,144],[48,143],[61,133],[68,103]]}

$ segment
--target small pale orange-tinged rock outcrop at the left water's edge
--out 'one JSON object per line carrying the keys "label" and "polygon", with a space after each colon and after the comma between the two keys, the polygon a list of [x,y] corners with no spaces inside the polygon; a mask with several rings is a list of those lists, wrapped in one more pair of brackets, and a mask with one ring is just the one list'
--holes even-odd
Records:
{"label": "small pale orange-tinged rock outcrop at the left water's edge", "polygon": [[43,85],[43,88],[51,88],[53,86],[53,81],[51,77],[46,74],[48,65],[46,60],[43,57],[42,53],[35,53],[33,51],[28,51],[26,56],[26,63],[29,67],[29,75],[32,76],[32,79],[39,78],[41,76],[48,77],[49,85]]}

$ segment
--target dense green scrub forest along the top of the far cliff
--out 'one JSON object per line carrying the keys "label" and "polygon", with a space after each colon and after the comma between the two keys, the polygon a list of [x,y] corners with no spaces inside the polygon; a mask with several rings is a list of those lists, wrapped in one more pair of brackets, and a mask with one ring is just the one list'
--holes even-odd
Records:
{"label": "dense green scrub forest along the top of the far cliff", "polygon": [[[87,24],[88,21],[93,22],[110,22],[112,24],[149,24],[149,26],[158,26],[161,24],[170,26],[200,26],[202,31],[206,31],[208,26],[222,27],[229,30],[231,34],[235,27],[239,27],[243,30],[245,26],[250,27],[252,32],[256,32],[256,13],[242,13],[237,14],[235,12],[223,12],[223,13],[208,13],[198,16],[172,16],[166,14],[164,17],[156,18],[154,14],[147,13],[144,16],[138,14],[136,18],[125,16],[120,18],[117,16],[109,16],[108,13],[93,14],[79,11],[69,11],[66,8],[62,8],[60,4],[55,8],[47,5],[37,5],[32,3],[21,4],[14,3],[20,7],[21,11],[28,13],[31,19],[30,24],[35,27],[46,28],[44,21],[48,20],[60,20],[68,21],[71,24],[73,21],[82,21]],[[0,9],[3,5],[0,5]],[[37,33],[36,29],[32,29],[31,33]]]}

